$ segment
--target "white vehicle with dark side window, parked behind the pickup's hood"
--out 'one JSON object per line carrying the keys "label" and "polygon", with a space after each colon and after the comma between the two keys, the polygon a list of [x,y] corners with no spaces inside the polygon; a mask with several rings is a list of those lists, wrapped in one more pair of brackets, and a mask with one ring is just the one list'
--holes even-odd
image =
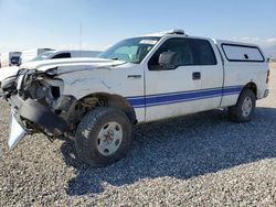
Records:
{"label": "white vehicle with dark side window, parked behind the pickup's hood", "polygon": [[49,51],[34,57],[33,61],[55,59],[55,58],[71,58],[71,57],[95,57],[99,54],[98,51],[77,51],[77,50],[62,50]]}

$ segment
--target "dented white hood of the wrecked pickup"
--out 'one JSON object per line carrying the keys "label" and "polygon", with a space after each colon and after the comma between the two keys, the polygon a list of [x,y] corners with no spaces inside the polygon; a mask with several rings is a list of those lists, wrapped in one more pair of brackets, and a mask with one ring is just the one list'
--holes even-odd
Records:
{"label": "dented white hood of the wrecked pickup", "polygon": [[63,72],[72,70],[72,67],[77,69],[83,68],[97,68],[97,67],[113,67],[121,65],[126,62],[105,59],[105,58],[61,58],[61,59],[47,59],[47,61],[36,61],[29,62],[20,66],[22,69],[35,69],[40,72],[46,72],[47,69],[59,67]]}

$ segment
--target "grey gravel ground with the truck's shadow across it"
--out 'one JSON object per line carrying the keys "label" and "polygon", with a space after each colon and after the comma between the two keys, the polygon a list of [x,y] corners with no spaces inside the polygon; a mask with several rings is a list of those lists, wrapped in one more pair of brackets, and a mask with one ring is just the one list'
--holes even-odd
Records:
{"label": "grey gravel ground with the truck's shadow across it", "polygon": [[128,156],[105,168],[41,134],[9,152],[0,102],[0,206],[276,206],[275,94],[276,69],[250,123],[214,110],[136,127]]}

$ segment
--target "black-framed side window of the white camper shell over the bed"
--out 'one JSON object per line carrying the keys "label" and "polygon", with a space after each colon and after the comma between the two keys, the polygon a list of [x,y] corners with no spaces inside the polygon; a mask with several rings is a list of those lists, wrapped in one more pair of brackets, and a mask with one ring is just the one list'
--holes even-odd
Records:
{"label": "black-framed side window of the white camper shell over the bed", "polygon": [[256,46],[222,44],[222,50],[230,62],[264,62],[265,58]]}

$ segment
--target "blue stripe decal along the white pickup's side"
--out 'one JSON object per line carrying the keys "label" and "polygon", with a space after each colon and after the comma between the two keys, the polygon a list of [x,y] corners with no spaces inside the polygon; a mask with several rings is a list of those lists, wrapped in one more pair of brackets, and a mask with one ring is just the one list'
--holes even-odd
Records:
{"label": "blue stripe decal along the white pickup's side", "polygon": [[148,95],[146,97],[144,96],[127,97],[127,100],[130,102],[132,107],[142,108],[142,107],[151,107],[158,105],[214,98],[220,96],[236,95],[240,94],[242,88],[243,86],[229,86],[224,88],[209,88],[201,90]]}

